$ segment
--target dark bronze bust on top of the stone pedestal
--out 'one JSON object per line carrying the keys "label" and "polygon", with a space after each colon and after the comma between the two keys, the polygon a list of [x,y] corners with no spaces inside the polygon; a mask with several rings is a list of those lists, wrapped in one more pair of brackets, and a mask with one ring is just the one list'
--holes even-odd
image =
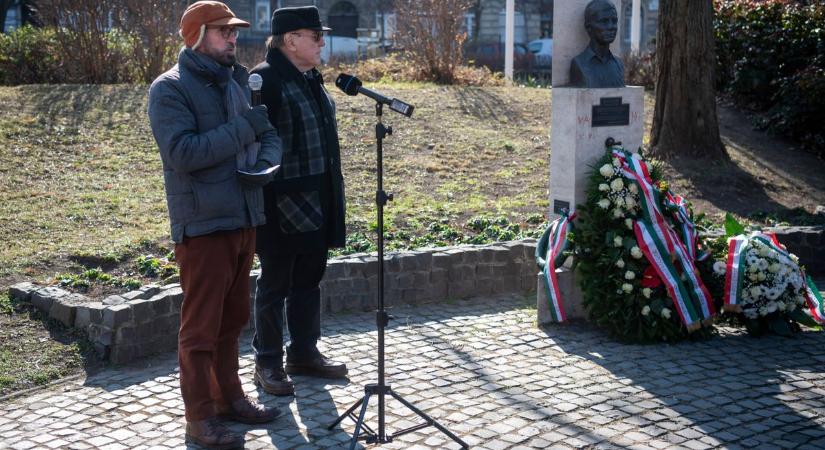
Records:
{"label": "dark bronze bust on top of the stone pedestal", "polygon": [[593,0],[584,10],[590,45],[570,63],[570,85],[585,88],[624,87],[624,64],[610,52],[619,15],[607,0]]}

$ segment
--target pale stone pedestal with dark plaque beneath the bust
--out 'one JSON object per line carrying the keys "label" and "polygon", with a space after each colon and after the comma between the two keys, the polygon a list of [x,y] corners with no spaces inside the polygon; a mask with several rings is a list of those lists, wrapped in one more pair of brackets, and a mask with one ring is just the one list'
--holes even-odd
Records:
{"label": "pale stone pedestal with dark plaque beneath the bust", "polygon": [[[644,89],[554,87],[552,108],[548,214],[551,221],[559,217],[562,208],[575,208],[586,201],[587,180],[596,161],[604,155],[607,138],[612,137],[633,152],[642,145]],[[586,318],[574,272],[562,267],[556,275],[567,317]],[[539,323],[547,323],[551,319],[540,277],[537,292]]]}

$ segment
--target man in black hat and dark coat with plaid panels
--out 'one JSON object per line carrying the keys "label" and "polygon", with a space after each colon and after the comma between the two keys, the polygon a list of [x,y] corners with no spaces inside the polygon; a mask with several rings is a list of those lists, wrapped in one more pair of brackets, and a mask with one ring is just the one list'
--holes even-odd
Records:
{"label": "man in black hat and dark coat with plaid panels", "polygon": [[[266,225],[258,228],[261,275],[255,292],[255,383],[291,395],[289,375],[346,377],[347,367],[326,359],[321,336],[319,283],[327,252],[343,247],[344,179],[335,103],[324,89],[324,32],[314,6],[272,14],[266,60],[254,69],[264,80],[261,98],[283,143],[281,170],[264,188]],[[283,365],[284,304],[290,345]]]}

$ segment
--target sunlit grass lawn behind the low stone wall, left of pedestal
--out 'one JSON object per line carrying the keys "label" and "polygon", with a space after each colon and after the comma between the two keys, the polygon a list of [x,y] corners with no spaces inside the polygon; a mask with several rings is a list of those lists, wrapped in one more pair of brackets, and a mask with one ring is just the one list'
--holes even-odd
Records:
{"label": "sunlit grass lawn behind the low stone wall, left of pedestal", "polygon": [[[389,110],[388,248],[459,242],[468,219],[503,216],[530,232],[547,208],[550,92],[386,85],[416,106]],[[374,230],[374,107],[331,90],[352,250]],[[171,248],[146,86],[0,88],[0,284],[115,265]],[[537,217],[538,215],[538,217]],[[528,222],[531,223],[527,223]],[[422,236],[427,236],[422,239]]]}

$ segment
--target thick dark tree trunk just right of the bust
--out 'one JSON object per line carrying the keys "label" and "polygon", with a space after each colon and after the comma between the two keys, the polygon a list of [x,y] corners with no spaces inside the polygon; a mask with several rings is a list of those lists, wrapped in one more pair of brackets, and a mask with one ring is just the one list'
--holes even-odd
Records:
{"label": "thick dark tree trunk just right of the bust", "polygon": [[651,153],[723,159],[716,116],[712,0],[659,2]]}

